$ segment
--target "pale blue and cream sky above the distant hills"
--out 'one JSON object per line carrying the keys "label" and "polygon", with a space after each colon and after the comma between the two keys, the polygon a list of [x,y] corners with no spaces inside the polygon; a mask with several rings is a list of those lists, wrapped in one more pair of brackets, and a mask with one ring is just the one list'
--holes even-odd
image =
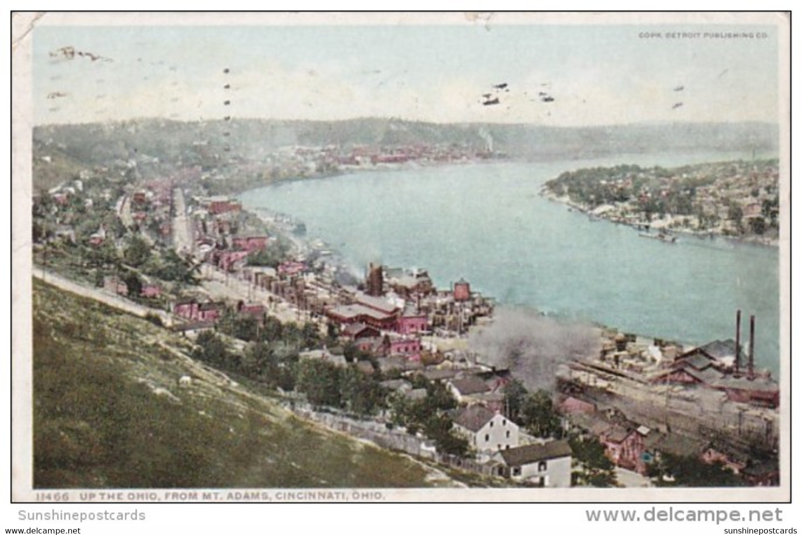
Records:
{"label": "pale blue and cream sky above the distant hills", "polygon": [[[476,16],[421,25],[363,15],[342,25],[267,15],[225,26],[141,24],[124,14],[77,26],[46,16],[31,33],[34,123],[225,115],[567,127],[778,120],[771,19],[589,25]],[[705,35],[713,32],[747,37]],[[75,56],[59,52],[70,46]]]}

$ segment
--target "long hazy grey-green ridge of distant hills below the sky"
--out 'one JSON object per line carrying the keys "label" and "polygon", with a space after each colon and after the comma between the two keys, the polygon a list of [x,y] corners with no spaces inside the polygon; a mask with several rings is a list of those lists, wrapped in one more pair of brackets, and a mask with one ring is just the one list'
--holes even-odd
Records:
{"label": "long hazy grey-green ridge of distant hills below the sky", "polygon": [[392,146],[455,144],[489,148],[513,158],[585,158],[652,151],[776,151],[779,129],[770,123],[642,123],[609,127],[524,124],[439,124],[399,119],[335,122],[232,119],[183,123],[141,119],[121,123],[34,128],[34,152],[55,148],[71,159],[102,165],[148,155],[163,161],[202,162],[229,147],[259,158],[290,145]]}

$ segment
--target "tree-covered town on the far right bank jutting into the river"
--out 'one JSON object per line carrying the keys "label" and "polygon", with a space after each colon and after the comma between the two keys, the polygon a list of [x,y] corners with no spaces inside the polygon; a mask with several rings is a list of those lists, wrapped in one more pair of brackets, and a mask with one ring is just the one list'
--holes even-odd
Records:
{"label": "tree-covered town on the far right bank jutting into the river", "polygon": [[778,165],[777,159],[741,159],[672,168],[589,167],[561,173],[541,194],[591,219],[636,227],[646,237],[678,232],[777,247]]}

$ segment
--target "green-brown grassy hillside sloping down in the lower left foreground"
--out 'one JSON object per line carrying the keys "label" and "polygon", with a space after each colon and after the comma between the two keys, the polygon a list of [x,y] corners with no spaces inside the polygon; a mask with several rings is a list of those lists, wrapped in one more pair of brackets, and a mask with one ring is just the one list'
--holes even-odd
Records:
{"label": "green-brown grassy hillside sloping down in the lower left foreground", "polygon": [[190,347],[34,280],[34,487],[449,485],[231,386],[183,356]]}

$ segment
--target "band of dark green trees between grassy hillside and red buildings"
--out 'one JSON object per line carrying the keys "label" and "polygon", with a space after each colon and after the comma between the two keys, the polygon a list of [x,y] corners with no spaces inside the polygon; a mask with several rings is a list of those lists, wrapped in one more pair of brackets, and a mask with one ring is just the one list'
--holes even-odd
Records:
{"label": "band of dark green trees between grassy hillside and red buildings", "polygon": [[[434,440],[439,451],[464,455],[468,441],[452,429],[452,416],[448,411],[457,402],[443,384],[412,376],[412,388],[423,388],[423,399],[410,400],[402,392],[391,392],[381,384],[383,380],[399,379],[400,370],[382,372],[376,360],[360,352],[353,344],[334,348],[341,353],[347,365],[328,360],[301,360],[304,348],[336,344],[337,340],[321,336],[314,324],[282,324],[272,317],[263,325],[250,317],[225,316],[218,330],[251,343],[242,352],[233,351],[217,332],[201,332],[196,340],[192,357],[224,371],[234,372],[282,392],[299,392],[321,410],[335,409],[355,417],[377,416],[390,413],[388,427],[403,427],[410,434],[422,432]],[[227,331],[227,329],[229,329]],[[370,372],[353,364],[370,362]]]}

